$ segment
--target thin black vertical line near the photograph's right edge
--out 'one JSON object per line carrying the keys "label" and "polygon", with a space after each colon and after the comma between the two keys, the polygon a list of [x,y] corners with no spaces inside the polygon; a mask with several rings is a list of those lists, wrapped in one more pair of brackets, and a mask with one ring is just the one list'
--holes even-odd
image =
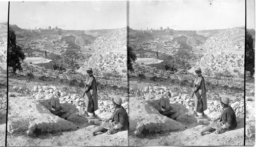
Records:
{"label": "thin black vertical line near the photograph's right edge", "polygon": [[246,107],[245,107],[245,104],[246,104],[246,100],[245,100],[245,77],[246,77],[246,71],[245,71],[245,68],[246,68],[246,0],[245,0],[245,41],[244,41],[244,146],[245,146],[245,139],[246,139],[246,135],[245,135],[245,131],[246,131]]}

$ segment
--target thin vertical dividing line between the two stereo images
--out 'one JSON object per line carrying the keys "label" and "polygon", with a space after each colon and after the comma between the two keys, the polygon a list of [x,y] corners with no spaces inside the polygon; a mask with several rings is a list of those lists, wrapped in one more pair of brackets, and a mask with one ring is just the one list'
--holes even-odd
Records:
{"label": "thin vertical dividing line between the two stereo images", "polygon": [[[127,96],[128,96],[128,118],[130,118],[129,114],[130,114],[130,109],[129,109],[129,106],[130,106],[130,88],[129,88],[129,71],[128,71],[128,46],[129,46],[129,30],[130,30],[130,27],[129,27],[129,10],[130,10],[130,7],[129,7],[129,1],[126,1],[126,23],[127,23],[127,26],[126,26],[126,52],[127,52],[127,61],[126,61],[126,68],[127,68]],[[128,119],[128,122],[129,122],[129,119]],[[128,133],[127,133],[127,146],[129,146],[129,126],[128,126]]]}

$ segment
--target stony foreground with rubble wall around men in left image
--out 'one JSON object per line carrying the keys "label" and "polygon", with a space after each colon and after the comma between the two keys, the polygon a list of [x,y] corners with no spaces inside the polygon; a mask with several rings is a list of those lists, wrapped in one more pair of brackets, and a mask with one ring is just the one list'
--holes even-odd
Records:
{"label": "stony foreground with rubble wall around men in left image", "polygon": [[[35,65],[30,66],[34,67]],[[33,69],[39,68],[38,66],[35,66],[35,68]],[[47,70],[46,73],[48,73],[49,71],[50,70]],[[11,94],[12,96],[14,96],[14,98],[10,98],[9,101],[10,110],[8,115],[8,145],[127,145],[127,135],[125,135],[127,134],[127,131],[122,131],[110,136],[106,136],[104,133],[99,134],[95,137],[86,135],[84,130],[91,130],[97,126],[91,125],[88,123],[87,119],[83,119],[83,117],[77,116],[79,114],[79,108],[82,100],[81,94],[83,88],[79,86],[80,82],[70,84],[71,80],[69,78],[62,79],[62,75],[68,76],[69,74],[61,74],[59,75],[59,79],[53,76],[45,76],[44,79],[42,78],[44,77],[44,75],[40,75],[38,71],[33,72],[34,78],[31,78],[31,76],[26,76],[25,73],[9,75],[9,92],[15,93],[9,93],[9,95]],[[96,114],[100,117],[100,119],[105,119],[113,112],[111,98],[121,97],[124,102],[123,106],[127,108],[127,92],[125,93],[126,88],[124,87],[125,83],[127,82],[125,80],[119,81],[117,84],[114,83],[112,80],[97,78],[97,76],[96,79],[98,82],[97,86],[99,96],[99,110]],[[19,99],[17,97],[20,97],[19,99],[22,99],[22,101],[19,102]],[[28,100],[31,100],[33,102],[28,102]],[[59,107],[61,107],[60,111],[65,113],[60,116],[53,115],[48,110],[50,109],[49,105],[51,106],[52,102],[54,103],[54,106],[59,105]],[[33,106],[34,103],[36,103],[35,106]],[[23,108],[26,109],[20,109],[21,107],[17,107],[19,106],[18,104],[23,105]],[[33,109],[33,107],[35,110]],[[41,108],[39,109],[39,107]],[[18,109],[20,110],[17,112]],[[24,114],[24,116],[22,115],[22,113]],[[48,113],[48,115],[45,116],[45,119],[43,119],[44,117],[42,117],[42,114],[45,113]],[[17,115],[19,115],[23,119],[17,119]],[[26,117],[28,118],[26,119]],[[63,122],[66,121],[65,119],[67,120],[67,122]],[[62,128],[54,125],[60,124],[60,122],[62,122]],[[49,131],[49,133],[34,137],[33,135],[35,134],[35,128],[47,130]],[[75,136],[74,140],[70,136]],[[68,141],[65,142],[63,140]],[[99,144],[93,143],[95,141],[99,142]]]}

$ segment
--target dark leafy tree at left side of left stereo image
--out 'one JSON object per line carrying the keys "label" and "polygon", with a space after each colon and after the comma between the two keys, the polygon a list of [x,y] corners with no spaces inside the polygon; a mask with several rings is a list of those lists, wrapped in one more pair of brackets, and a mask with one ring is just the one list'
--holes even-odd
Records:
{"label": "dark leafy tree at left side of left stereo image", "polygon": [[8,39],[8,67],[12,67],[13,73],[15,73],[16,70],[22,70],[20,61],[24,61],[26,57],[22,51],[22,48],[16,43],[16,35],[14,30],[9,29]]}

